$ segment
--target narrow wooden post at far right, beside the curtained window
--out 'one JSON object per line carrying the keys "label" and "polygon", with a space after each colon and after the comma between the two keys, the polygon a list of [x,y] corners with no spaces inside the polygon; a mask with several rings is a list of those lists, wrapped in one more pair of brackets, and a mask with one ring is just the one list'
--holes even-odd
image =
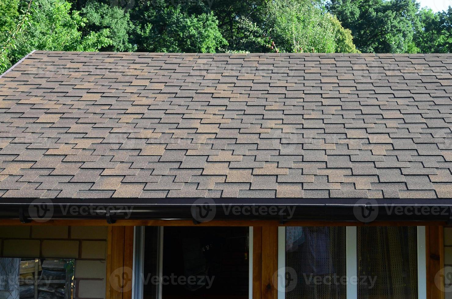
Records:
{"label": "narrow wooden post at far right, beside the curtained window", "polygon": [[444,227],[425,227],[427,299],[444,299]]}

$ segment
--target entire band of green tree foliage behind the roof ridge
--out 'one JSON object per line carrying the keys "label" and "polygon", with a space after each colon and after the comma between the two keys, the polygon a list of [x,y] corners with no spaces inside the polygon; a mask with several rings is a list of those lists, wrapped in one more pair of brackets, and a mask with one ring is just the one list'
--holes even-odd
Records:
{"label": "entire band of green tree foliage behind the roof ridge", "polygon": [[449,53],[417,0],[0,1],[1,69],[32,50]]}

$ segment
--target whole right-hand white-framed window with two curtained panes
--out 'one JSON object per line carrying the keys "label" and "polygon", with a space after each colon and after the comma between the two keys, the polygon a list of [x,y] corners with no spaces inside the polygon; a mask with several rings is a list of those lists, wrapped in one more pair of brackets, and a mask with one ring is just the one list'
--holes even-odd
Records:
{"label": "whole right-hand white-framed window with two curtained panes", "polygon": [[280,227],[278,238],[278,299],[426,298],[424,227]]}

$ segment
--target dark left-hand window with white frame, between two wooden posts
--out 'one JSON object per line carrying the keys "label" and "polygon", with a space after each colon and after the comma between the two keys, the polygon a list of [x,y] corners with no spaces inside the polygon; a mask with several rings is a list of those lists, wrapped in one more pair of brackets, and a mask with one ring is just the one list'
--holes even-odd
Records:
{"label": "dark left-hand window with white frame, between two wooden posts", "polygon": [[[136,242],[133,298],[248,299],[248,227],[145,227]],[[137,237],[137,233],[136,233]],[[141,262],[139,261],[141,260]]]}

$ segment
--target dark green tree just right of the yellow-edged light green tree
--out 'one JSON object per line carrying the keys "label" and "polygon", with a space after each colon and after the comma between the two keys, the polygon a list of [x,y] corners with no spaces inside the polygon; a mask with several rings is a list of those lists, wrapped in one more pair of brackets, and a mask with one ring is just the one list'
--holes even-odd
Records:
{"label": "dark green tree just right of the yellow-edged light green tree", "polygon": [[416,0],[331,0],[327,5],[352,31],[358,50],[376,53],[417,52],[413,35],[420,26]]}

